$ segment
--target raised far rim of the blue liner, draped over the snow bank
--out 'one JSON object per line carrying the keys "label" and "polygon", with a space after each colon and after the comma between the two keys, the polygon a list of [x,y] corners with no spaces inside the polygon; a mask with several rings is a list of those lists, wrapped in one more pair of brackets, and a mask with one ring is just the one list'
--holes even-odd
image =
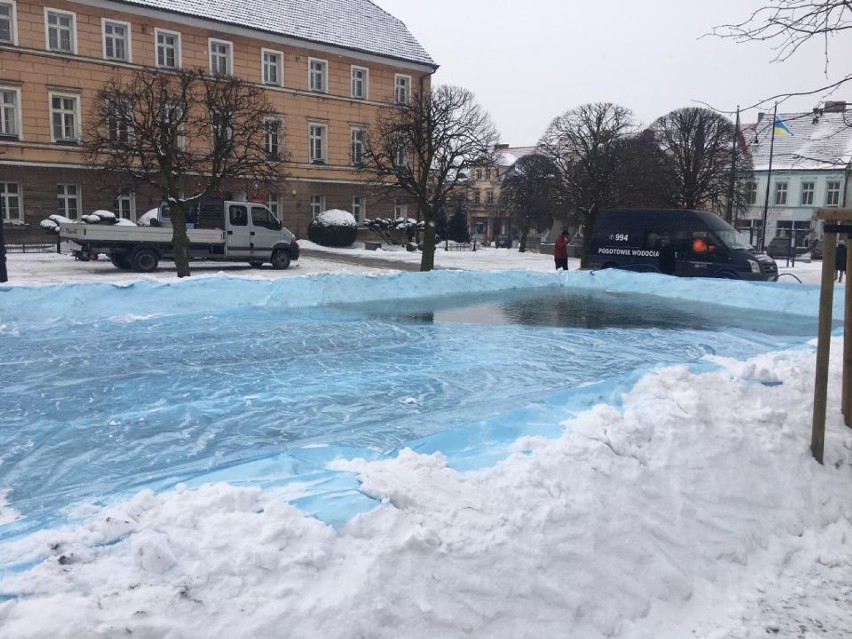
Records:
{"label": "raised far rim of the blue liner, draped over the snow bank", "polygon": [[[114,316],[117,302],[142,316],[178,315],[227,308],[306,308],[327,304],[412,300],[426,297],[564,286],[573,290],[641,294],[721,304],[743,310],[815,316],[819,286],[778,282],[672,278],[655,273],[569,271],[431,271],[382,275],[319,275],[257,280],[240,277],[140,279],[123,284],[0,286],[6,322],[31,325],[60,321],[90,322]],[[834,296],[835,317],[843,312],[844,292]]]}

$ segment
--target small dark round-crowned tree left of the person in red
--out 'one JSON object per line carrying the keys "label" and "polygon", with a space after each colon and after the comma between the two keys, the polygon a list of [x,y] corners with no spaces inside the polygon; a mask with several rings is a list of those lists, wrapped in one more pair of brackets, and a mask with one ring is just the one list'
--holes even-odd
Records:
{"label": "small dark round-crowned tree left of the person in red", "polygon": [[506,201],[513,223],[521,229],[519,252],[526,251],[532,227],[553,223],[562,206],[561,193],[559,171],[547,156],[525,155],[506,171],[500,196]]}

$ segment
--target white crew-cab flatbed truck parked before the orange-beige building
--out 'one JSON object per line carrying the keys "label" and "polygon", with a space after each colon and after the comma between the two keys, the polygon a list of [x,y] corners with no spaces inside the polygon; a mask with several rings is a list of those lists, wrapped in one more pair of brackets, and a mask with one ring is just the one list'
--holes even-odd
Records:
{"label": "white crew-cab flatbed truck parked before the orange-beige building", "polygon": [[[160,260],[174,258],[172,227],[166,210],[160,210],[156,226],[63,222],[59,239],[71,242],[81,255],[104,253],[117,268],[150,273]],[[193,210],[187,226],[190,260],[248,262],[254,267],[268,262],[286,269],[299,259],[296,237],[263,204],[209,200]]]}

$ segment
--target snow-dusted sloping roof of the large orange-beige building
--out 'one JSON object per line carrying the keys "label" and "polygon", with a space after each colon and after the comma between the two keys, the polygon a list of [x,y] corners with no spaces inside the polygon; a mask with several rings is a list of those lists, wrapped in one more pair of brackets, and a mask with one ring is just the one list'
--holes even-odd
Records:
{"label": "snow-dusted sloping roof of the large orange-beige building", "polygon": [[111,0],[433,68],[405,24],[369,0]]}

